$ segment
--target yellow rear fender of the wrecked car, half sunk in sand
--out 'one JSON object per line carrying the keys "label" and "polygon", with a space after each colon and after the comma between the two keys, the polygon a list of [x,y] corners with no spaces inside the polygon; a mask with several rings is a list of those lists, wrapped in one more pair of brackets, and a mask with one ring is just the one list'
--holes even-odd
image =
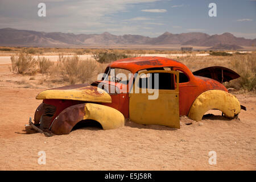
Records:
{"label": "yellow rear fender of the wrecked car, half sunk in sand", "polygon": [[193,102],[188,117],[201,121],[203,115],[210,109],[221,110],[226,117],[234,118],[241,111],[240,102],[236,96],[222,90],[203,92]]}

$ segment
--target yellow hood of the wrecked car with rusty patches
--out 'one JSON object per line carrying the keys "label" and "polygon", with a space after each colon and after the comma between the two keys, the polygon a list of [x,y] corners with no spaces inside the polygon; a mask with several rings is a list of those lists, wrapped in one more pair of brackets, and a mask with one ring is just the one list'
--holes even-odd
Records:
{"label": "yellow hood of the wrecked car with rusty patches", "polygon": [[61,99],[104,103],[112,102],[112,98],[105,90],[97,88],[97,86],[86,84],[44,90],[36,96],[36,99]]}

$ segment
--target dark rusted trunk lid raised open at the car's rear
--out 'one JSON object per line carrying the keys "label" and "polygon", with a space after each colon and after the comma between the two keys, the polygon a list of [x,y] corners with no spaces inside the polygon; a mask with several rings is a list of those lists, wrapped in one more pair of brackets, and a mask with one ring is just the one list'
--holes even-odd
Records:
{"label": "dark rusted trunk lid raised open at the car's rear", "polygon": [[203,68],[193,72],[193,75],[212,78],[213,80],[217,80],[218,82],[221,82],[221,83],[234,80],[240,77],[240,75],[238,75],[236,72],[225,67]]}

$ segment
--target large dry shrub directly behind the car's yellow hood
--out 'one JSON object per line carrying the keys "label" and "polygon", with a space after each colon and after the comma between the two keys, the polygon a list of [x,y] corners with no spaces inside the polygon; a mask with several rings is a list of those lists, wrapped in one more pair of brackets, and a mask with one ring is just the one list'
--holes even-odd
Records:
{"label": "large dry shrub directly behind the car's yellow hood", "polygon": [[96,71],[96,62],[93,60],[81,60],[77,55],[73,57],[59,56],[57,68],[63,78],[70,84],[77,82],[86,82],[94,76]]}

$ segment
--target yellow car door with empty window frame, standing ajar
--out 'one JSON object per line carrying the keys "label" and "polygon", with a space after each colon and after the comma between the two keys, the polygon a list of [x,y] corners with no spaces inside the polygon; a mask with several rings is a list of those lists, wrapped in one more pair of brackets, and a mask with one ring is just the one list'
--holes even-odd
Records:
{"label": "yellow car door with empty window frame, standing ajar", "polygon": [[[139,78],[151,73],[170,73],[171,79],[173,79],[174,89],[140,88],[138,85]],[[155,74],[152,75],[155,77]],[[147,81],[149,80],[147,79]],[[148,82],[148,84],[150,83]],[[129,93],[129,118],[131,121],[143,125],[164,125],[176,129],[180,128],[179,72],[167,70],[140,72],[135,77],[131,90],[132,92]],[[155,92],[158,92],[158,97],[156,99],[150,99]]]}

